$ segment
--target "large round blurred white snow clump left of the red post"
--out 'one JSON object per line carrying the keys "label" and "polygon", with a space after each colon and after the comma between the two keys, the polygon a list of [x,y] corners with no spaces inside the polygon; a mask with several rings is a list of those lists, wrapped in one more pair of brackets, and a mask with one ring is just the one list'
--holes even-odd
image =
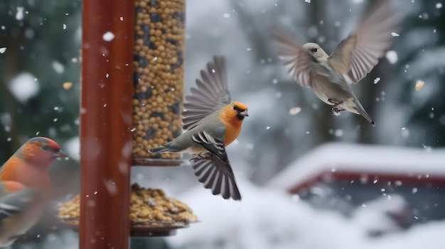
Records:
{"label": "large round blurred white snow clump left of the red post", "polygon": [[28,99],[36,96],[40,90],[40,86],[36,77],[29,72],[22,72],[9,82],[9,91],[21,103],[25,103]]}

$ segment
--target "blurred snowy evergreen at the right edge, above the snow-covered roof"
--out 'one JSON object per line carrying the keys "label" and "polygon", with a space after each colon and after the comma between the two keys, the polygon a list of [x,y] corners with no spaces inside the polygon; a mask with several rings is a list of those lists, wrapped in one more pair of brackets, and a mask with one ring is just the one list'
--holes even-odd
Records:
{"label": "blurred snowy evergreen at the right edge, above the snow-covered roof", "polygon": [[[439,7],[440,6],[440,7]],[[441,4],[419,1],[419,11],[410,13],[404,21],[404,51],[397,63],[401,77],[400,105],[407,106],[410,128],[407,145],[440,147],[445,145],[445,15]],[[428,36],[427,36],[428,35]],[[413,38],[422,37],[416,45]],[[410,44],[412,43],[412,44]],[[414,90],[417,80],[424,88]],[[427,94],[425,94],[427,92]],[[420,97],[419,97],[420,96]]]}

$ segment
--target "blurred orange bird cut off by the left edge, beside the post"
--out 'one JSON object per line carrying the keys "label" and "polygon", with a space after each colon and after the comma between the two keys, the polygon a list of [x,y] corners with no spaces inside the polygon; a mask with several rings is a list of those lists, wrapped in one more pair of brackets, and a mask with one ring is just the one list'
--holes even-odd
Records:
{"label": "blurred orange bird cut off by the left edge, beside the post", "polygon": [[40,218],[50,197],[48,167],[67,157],[49,138],[31,138],[0,170],[0,247],[26,233]]}

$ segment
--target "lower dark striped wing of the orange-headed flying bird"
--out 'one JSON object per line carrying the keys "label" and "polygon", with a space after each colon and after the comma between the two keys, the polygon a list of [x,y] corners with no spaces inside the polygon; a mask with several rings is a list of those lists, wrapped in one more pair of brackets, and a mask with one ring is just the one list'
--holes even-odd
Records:
{"label": "lower dark striped wing of the orange-headed flying bird", "polygon": [[206,189],[212,189],[212,194],[221,194],[224,199],[230,197],[234,200],[241,199],[235,175],[228,160],[223,161],[213,153],[200,153],[195,155],[190,162],[199,182],[202,182]]}

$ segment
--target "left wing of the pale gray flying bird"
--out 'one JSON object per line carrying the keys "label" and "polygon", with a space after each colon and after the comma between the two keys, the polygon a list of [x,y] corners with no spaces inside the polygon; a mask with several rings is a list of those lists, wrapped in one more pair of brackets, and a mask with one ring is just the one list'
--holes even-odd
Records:
{"label": "left wing of the pale gray flying bird", "polygon": [[321,65],[315,57],[281,29],[274,28],[272,31],[272,39],[282,48],[282,51],[279,52],[279,58],[284,60],[284,66],[287,68],[289,75],[301,84],[301,86],[312,87],[312,77],[316,74],[336,77],[328,68]]}

